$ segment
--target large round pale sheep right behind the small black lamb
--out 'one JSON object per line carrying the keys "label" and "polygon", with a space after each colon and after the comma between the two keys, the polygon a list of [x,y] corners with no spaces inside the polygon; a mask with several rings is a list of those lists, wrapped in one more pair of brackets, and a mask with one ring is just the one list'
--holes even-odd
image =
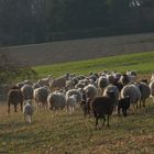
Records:
{"label": "large round pale sheep right behind the small black lamb", "polygon": [[121,90],[121,98],[125,98],[127,96],[130,97],[130,105],[136,105],[141,100],[141,91],[139,87],[134,84],[127,85]]}

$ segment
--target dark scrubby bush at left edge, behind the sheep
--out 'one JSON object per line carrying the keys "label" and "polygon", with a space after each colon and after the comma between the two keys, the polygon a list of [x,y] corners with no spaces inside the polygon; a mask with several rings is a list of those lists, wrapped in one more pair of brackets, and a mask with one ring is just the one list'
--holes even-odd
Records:
{"label": "dark scrubby bush at left edge, behind the sheep", "polygon": [[35,79],[37,74],[30,66],[21,66],[6,53],[0,53],[0,85],[13,84],[24,79]]}

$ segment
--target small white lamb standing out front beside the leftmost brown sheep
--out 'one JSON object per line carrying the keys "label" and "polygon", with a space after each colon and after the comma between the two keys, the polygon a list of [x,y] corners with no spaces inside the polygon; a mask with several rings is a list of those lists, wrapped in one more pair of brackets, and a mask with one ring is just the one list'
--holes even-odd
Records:
{"label": "small white lamb standing out front beside the leftmost brown sheep", "polygon": [[23,114],[24,114],[24,121],[32,123],[33,107],[31,100],[26,100],[25,105],[23,106]]}

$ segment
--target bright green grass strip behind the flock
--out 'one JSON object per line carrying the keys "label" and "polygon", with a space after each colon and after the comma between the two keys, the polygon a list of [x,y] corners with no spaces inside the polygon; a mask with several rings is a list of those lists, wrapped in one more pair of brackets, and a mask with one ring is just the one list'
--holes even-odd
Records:
{"label": "bright green grass strip behind the flock", "polygon": [[41,77],[48,74],[52,74],[54,76],[64,75],[66,73],[89,74],[91,72],[101,72],[103,69],[117,72],[134,69],[140,74],[147,74],[154,70],[154,52],[38,66],[34,67],[34,69]]}

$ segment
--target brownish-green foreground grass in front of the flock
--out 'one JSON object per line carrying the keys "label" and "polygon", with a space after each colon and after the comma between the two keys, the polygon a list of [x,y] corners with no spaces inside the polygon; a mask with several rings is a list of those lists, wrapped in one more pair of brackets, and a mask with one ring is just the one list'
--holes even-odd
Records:
{"label": "brownish-green foreground grass in front of the flock", "polygon": [[121,119],[111,117],[111,127],[95,130],[95,119],[82,117],[78,108],[70,116],[65,111],[41,111],[33,123],[25,124],[21,112],[0,119],[0,152],[10,154],[102,154],[153,153],[154,106],[147,101],[146,112]]}

